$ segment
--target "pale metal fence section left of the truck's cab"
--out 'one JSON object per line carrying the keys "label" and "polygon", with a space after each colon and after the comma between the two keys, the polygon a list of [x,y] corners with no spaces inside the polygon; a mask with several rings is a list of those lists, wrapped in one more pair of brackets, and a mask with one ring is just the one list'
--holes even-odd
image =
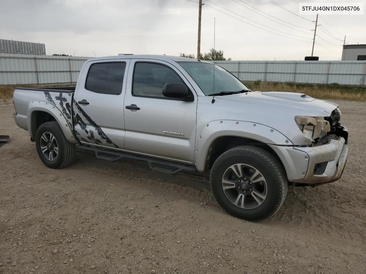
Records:
{"label": "pale metal fence section left of the truck's cab", "polygon": [[75,84],[88,58],[0,54],[0,85]]}

